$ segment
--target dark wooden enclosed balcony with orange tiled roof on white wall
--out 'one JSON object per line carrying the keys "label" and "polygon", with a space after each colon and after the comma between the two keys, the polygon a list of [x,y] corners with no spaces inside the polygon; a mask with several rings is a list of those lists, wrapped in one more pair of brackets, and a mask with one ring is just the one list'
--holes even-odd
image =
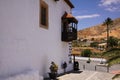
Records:
{"label": "dark wooden enclosed balcony with orange tiled roof on white wall", "polygon": [[62,41],[72,41],[77,39],[77,19],[65,12],[62,17]]}

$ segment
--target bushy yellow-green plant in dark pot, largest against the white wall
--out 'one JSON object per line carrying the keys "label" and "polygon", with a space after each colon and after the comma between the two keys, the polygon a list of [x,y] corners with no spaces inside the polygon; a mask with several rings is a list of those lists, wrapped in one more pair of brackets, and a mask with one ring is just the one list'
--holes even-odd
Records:
{"label": "bushy yellow-green plant in dark pot, largest against the white wall", "polygon": [[50,66],[49,69],[50,69],[50,73],[49,73],[50,79],[56,79],[57,71],[58,71],[58,65],[56,65],[54,62],[51,62],[51,66]]}

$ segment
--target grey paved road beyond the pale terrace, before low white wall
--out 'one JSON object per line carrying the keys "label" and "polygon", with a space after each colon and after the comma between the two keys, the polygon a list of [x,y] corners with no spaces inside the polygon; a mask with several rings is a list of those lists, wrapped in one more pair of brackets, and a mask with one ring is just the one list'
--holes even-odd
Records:
{"label": "grey paved road beyond the pale terrace, before low white wall", "polygon": [[[84,70],[95,71],[96,70],[96,71],[105,72],[105,73],[108,71],[106,66],[102,66],[103,64],[100,64],[100,61],[91,61],[90,63],[86,63],[86,60],[80,60],[80,59],[76,59],[76,61],[79,62],[79,69],[81,71],[84,71]],[[120,70],[120,64],[109,67],[109,72],[118,71],[118,70]]]}

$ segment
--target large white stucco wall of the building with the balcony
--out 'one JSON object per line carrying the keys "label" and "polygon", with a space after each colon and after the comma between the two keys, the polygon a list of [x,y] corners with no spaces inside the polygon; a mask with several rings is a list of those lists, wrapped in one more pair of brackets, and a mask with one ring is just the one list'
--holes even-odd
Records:
{"label": "large white stucco wall of the building with the balcony", "polygon": [[47,76],[51,61],[59,65],[59,72],[61,63],[68,63],[69,46],[61,41],[61,17],[70,7],[63,0],[44,1],[49,6],[48,30],[39,27],[39,0],[0,0],[0,76],[26,69]]}

